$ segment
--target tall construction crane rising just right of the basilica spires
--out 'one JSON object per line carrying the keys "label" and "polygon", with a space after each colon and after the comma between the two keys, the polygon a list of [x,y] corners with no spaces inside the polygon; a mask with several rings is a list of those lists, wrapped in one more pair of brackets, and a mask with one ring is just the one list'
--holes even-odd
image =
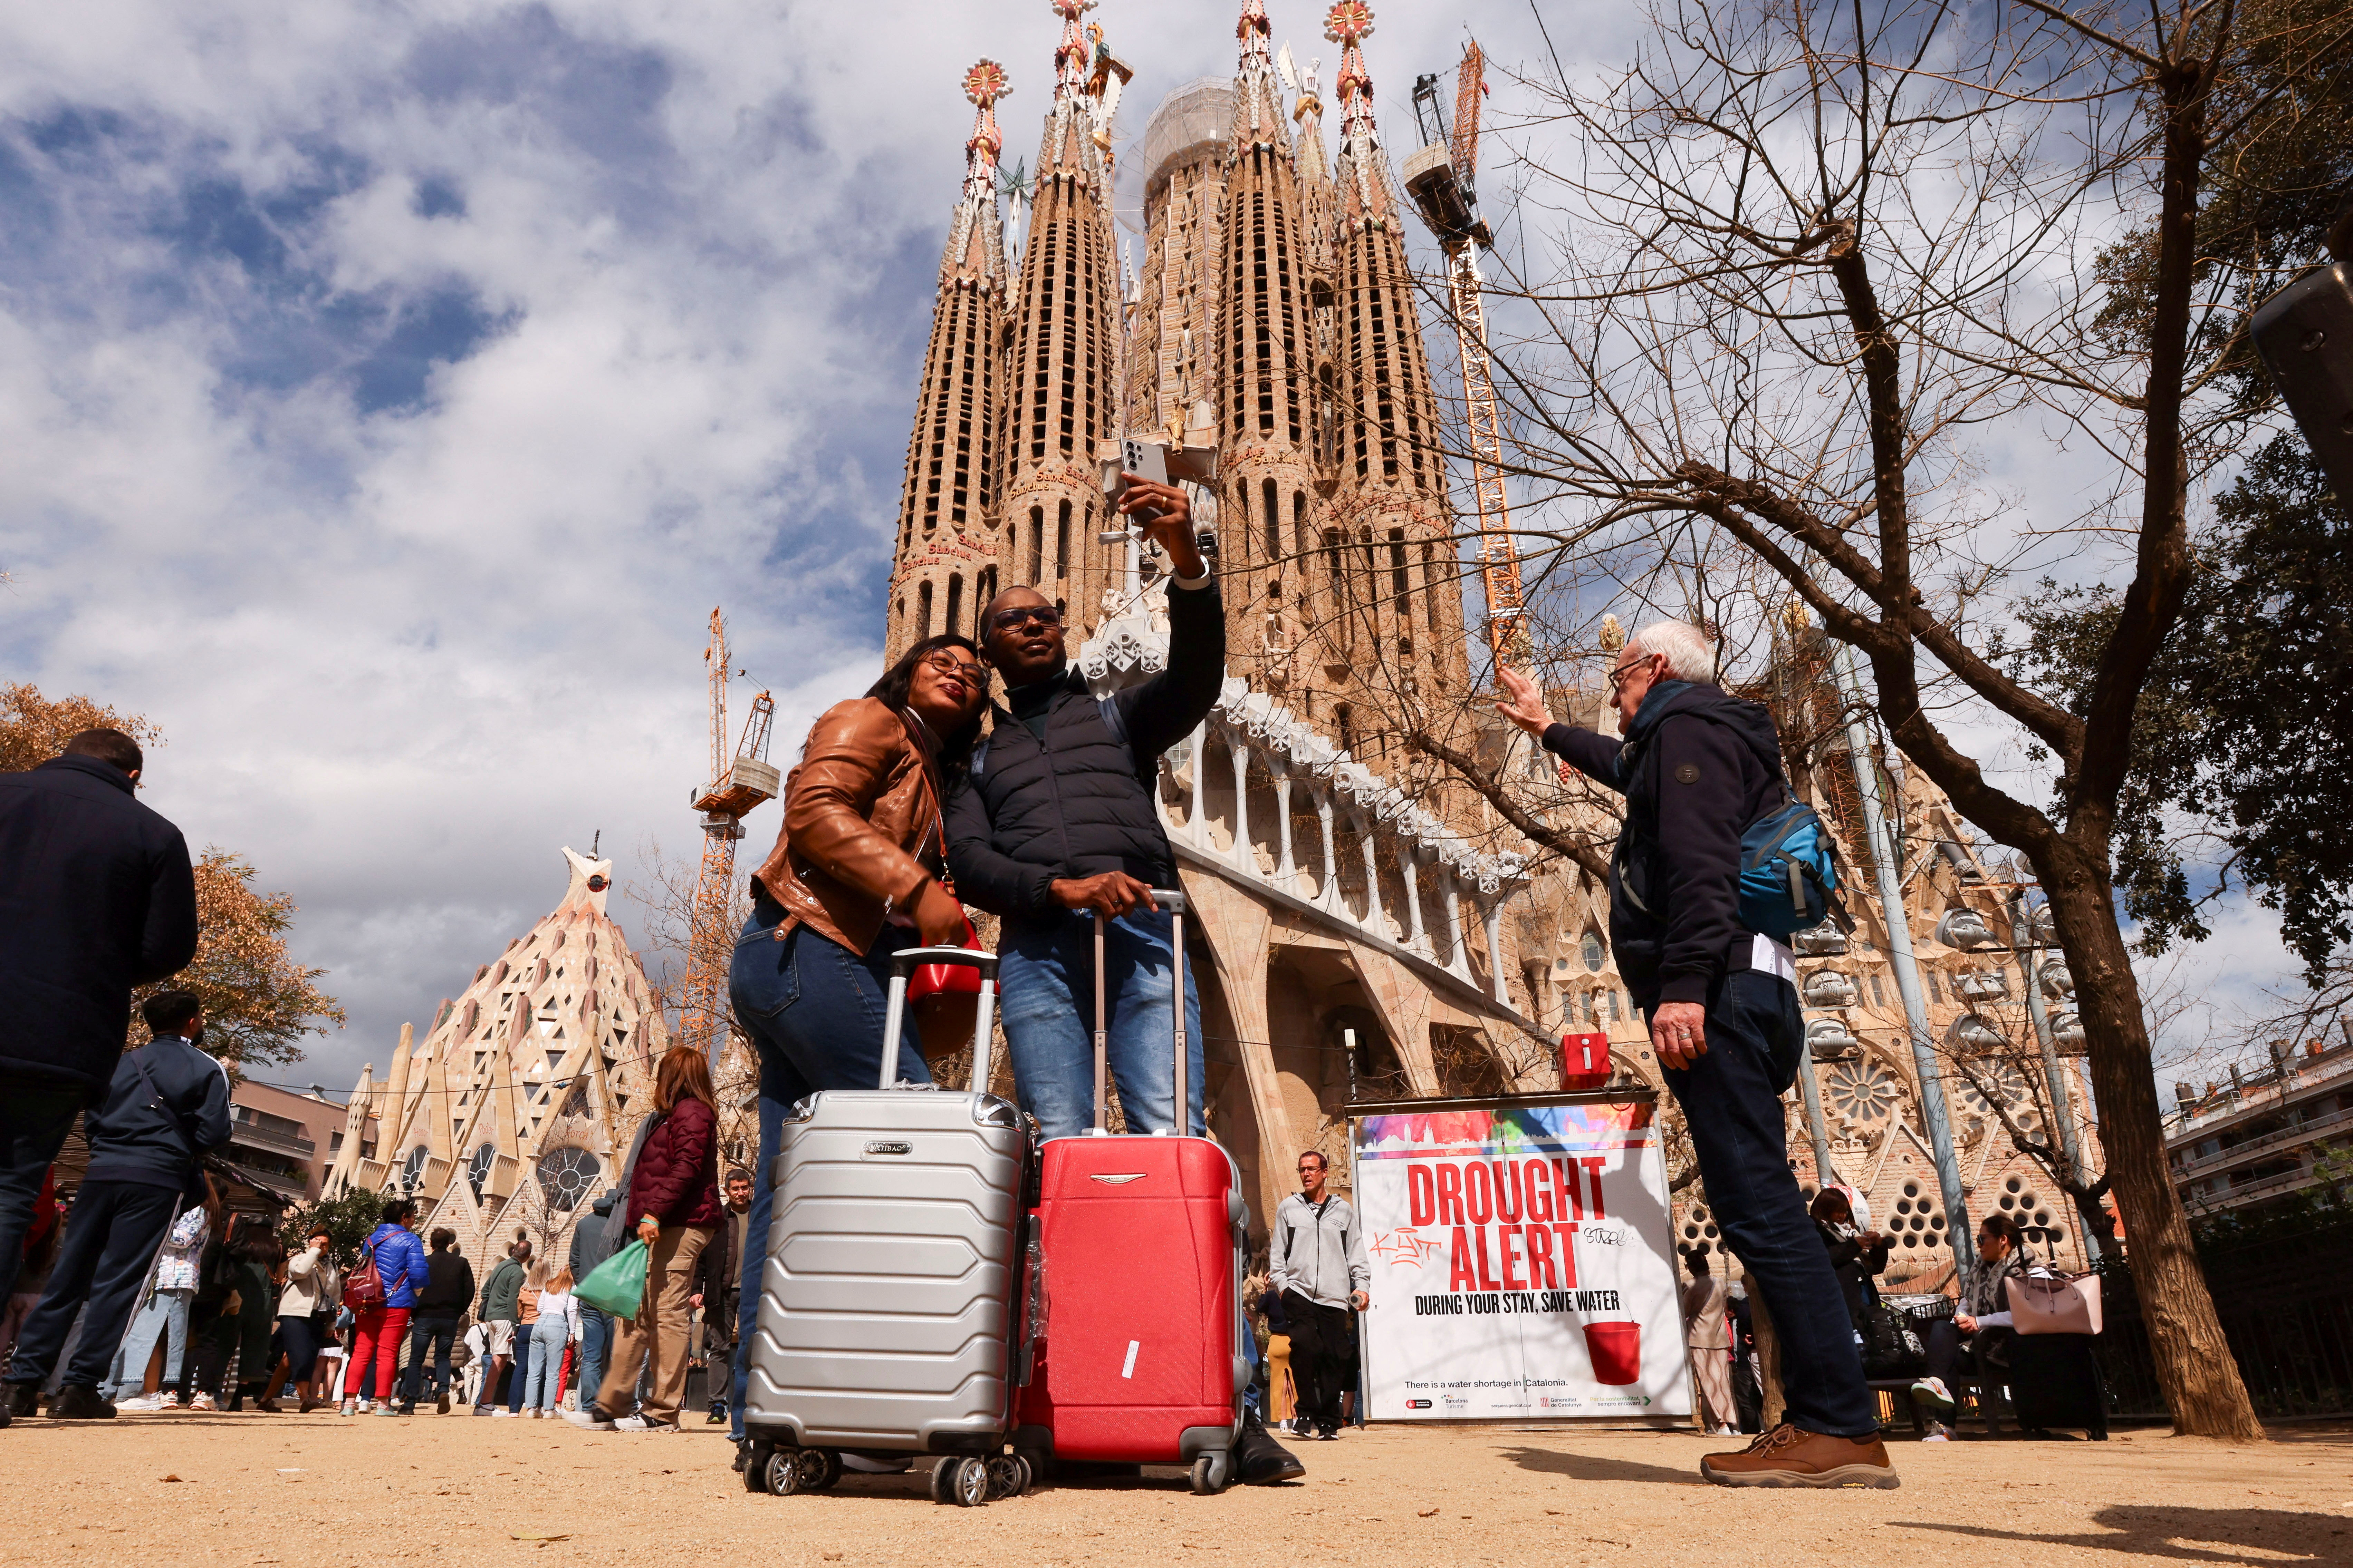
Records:
{"label": "tall construction crane rising just right of the basilica spires", "polygon": [[1511,501],[1504,496],[1504,428],[1494,409],[1494,369],[1487,357],[1485,280],[1478,254],[1494,235],[1478,216],[1478,110],[1487,94],[1487,56],[1478,40],[1464,47],[1454,73],[1454,134],[1447,134],[1438,78],[1414,82],[1419,153],[1405,160],[1405,190],[1447,256],[1447,299],[1464,362],[1464,423],[1471,433],[1471,498],[1478,508],[1478,564],[1487,585],[1487,646],[1497,663],[1527,663],[1527,623],[1520,607],[1520,552],[1511,543]]}

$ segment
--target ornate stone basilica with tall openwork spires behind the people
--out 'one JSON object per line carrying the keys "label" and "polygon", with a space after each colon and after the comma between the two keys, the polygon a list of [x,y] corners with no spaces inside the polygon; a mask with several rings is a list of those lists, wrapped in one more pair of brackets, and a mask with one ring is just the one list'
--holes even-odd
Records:
{"label": "ornate stone basilica with tall openwork spires behind the people", "polygon": [[[1214,522],[1228,679],[1162,759],[1160,802],[1200,910],[1209,1124],[1261,1225],[1299,1150],[1341,1154],[1351,1100],[1553,1091],[1565,1034],[1605,1037],[1617,1081],[1659,1086],[1609,954],[1605,889],[1461,783],[1461,762],[1492,771],[1537,818],[1607,842],[1584,783],[1499,729],[1473,672],[1426,346],[1449,327],[1424,322],[1412,209],[1374,113],[1372,12],[1341,0],[1322,19],[1339,45],[1329,143],[1320,61],[1299,71],[1278,54],[1264,0],[1242,0],[1233,75],[1176,87],[1122,148],[1132,73],[1085,24],[1094,0],[1049,2],[1061,35],[1026,179],[1002,169],[1012,73],[981,61],[965,78],[976,118],[908,444],[887,654],[969,635],[998,588],[1031,583],[1064,607],[1099,689],[1158,670],[1167,585],[1111,527],[1104,463],[1122,437],[1165,442]],[[1141,193],[1125,254],[1122,158]],[[2080,1051],[2066,971],[2021,966],[2033,940],[2014,940],[2014,884],[1854,722],[1817,632],[1786,628],[1772,677],[1746,693],[1774,708],[1793,783],[1857,872],[1857,929],[1800,943],[1812,1060],[1788,1095],[1793,1166],[1868,1199],[1897,1237],[1892,1279],[1932,1276],[1951,1262],[1941,1124],[1972,1213],[2012,1211],[2080,1258],[2073,1208],[2002,1117],[2094,1138],[2071,1056],[2042,1079],[2031,1048],[2002,1048],[2040,1032]],[[1614,731],[1574,682],[1555,712]],[[1901,851],[1882,856],[1908,961],[1868,896],[1882,842]],[[353,1098],[336,1178],[407,1178],[431,1222],[468,1241],[518,1227],[560,1239],[581,1194],[612,1178],[664,1048],[605,914],[609,867],[569,858],[555,912]],[[1915,1044],[1906,973],[1934,1051]],[[1955,1072],[1955,1053],[1977,1067]],[[367,1117],[374,1159],[358,1157]],[[1685,1251],[1715,1237],[1697,1187],[1678,1229]]]}

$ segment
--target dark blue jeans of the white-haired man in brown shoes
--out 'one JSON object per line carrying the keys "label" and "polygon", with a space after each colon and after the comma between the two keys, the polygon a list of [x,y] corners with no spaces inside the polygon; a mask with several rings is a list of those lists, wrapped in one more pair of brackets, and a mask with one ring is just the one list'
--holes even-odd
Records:
{"label": "dark blue jeans of the white-haired man in brown shoes", "polygon": [[1666,1086],[1692,1128],[1708,1213],[1772,1312],[1786,1420],[1871,1436],[1878,1403],[1864,1385],[1847,1298],[1788,1168],[1781,1091],[1795,1081],[1805,1039],[1798,987],[1737,969],[1708,992],[1706,1027],[1708,1053],[1692,1067],[1666,1067]]}

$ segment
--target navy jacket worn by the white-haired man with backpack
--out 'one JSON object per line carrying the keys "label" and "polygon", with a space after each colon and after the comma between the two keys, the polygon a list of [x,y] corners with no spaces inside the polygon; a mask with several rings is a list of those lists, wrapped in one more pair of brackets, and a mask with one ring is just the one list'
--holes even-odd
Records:
{"label": "navy jacket worn by the white-haired man with backpack", "polygon": [[[1772,715],[1715,686],[1666,679],[1642,698],[1624,741],[1553,724],[1544,750],[1626,797],[1609,860],[1609,945],[1635,1006],[1706,1006],[1727,966],[1748,969],[1741,832],[1781,804]],[[1649,914],[1626,896],[1626,879]]]}

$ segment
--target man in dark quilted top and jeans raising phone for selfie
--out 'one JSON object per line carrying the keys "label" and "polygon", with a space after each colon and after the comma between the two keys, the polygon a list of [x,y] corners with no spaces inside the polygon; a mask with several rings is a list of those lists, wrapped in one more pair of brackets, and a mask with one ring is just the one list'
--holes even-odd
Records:
{"label": "man in dark quilted top and jeans raising phone for selfie", "polygon": [[[1193,543],[1184,491],[1127,477],[1120,510],[1160,515],[1167,550],[1167,670],[1096,701],[1064,656],[1061,616],[1033,588],[1007,588],[981,618],[981,656],[1005,703],[948,797],[948,870],[969,905],[1005,917],[1005,1039],[1021,1107],[1047,1138],[1094,1121],[1094,917],[1104,914],[1111,1074],[1129,1131],[1176,1128],[1169,1051],[1169,917],[1151,889],[1174,886],[1176,856],[1153,802],[1160,752],[1209,717],[1226,679],[1226,607]],[[1200,997],[1186,980],[1188,1126],[1200,1133]]]}

